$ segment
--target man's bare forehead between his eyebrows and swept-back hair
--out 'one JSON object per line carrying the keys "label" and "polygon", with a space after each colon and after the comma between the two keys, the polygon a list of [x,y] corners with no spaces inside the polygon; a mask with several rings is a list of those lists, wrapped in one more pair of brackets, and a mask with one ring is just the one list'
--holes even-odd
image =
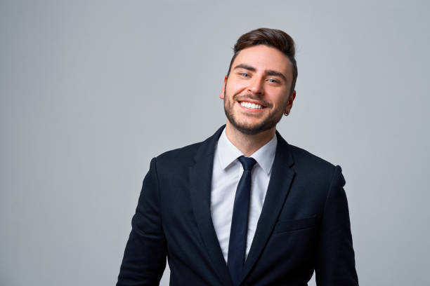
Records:
{"label": "man's bare forehead between his eyebrows and swept-back hair", "polygon": [[234,69],[237,64],[247,64],[257,71],[279,71],[288,78],[292,77],[292,64],[289,58],[280,50],[265,45],[240,50],[232,64],[232,68]]}

